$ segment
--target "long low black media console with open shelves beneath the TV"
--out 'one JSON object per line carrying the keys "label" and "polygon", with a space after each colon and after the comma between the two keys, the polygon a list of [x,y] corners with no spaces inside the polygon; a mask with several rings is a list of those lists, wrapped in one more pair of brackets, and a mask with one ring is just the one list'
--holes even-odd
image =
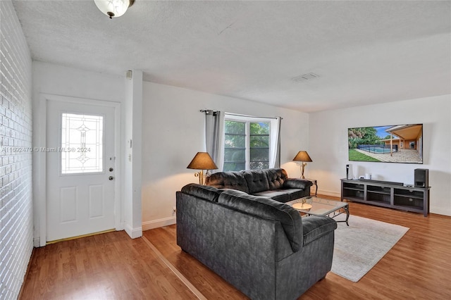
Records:
{"label": "long low black media console with open shelves beneath the TV", "polygon": [[341,180],[341,201],[361,202],[389,208],[429,213],[431,187],[404,187],[401,182],[382,180]]}

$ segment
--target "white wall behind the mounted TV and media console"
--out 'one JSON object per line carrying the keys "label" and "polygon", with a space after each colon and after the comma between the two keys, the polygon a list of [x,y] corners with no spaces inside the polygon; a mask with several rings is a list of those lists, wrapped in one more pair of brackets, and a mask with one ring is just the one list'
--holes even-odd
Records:
{"label": "white wall behind the mounted TV and media console", "polygon": [[[423,123],[424,163],[369,163],[348,161],[347,128]],[[351,163],[354,175],[414,183],[414,169],[429,169],[431,213],[451,215],[451,95],[388,104],[359,106],[310,114],[309,177],[319,192],[340,196],[340,178]]]}

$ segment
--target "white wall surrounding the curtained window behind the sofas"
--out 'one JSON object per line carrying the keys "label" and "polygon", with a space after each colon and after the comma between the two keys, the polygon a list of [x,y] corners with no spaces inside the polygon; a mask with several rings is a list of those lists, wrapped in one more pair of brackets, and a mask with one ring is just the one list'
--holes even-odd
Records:
{"label": "white wall surrounding the curtained window behind the sofas", "polygon": [[283,117],[280,163],[290,176],[299,177],[292,158],[307,149],[307,113],[151,82],[144,82],[142,106],[143,230],[173,224],[175,192],[198,180],[186,167],[198,151],[205,151],[201,109]]}

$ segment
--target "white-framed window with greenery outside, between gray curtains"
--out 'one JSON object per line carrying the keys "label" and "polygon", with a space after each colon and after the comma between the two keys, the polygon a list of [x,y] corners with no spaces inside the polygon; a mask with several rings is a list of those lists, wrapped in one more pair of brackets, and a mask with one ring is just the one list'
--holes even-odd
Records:
{"label": "white-framed window with greenery outside, between gray curtains", "polygon": [[[226,114],[224,118],[223,171],[261,170],[273,167],[271,138],[275,119]],[[276,130],[278,132],[278,130]]]}

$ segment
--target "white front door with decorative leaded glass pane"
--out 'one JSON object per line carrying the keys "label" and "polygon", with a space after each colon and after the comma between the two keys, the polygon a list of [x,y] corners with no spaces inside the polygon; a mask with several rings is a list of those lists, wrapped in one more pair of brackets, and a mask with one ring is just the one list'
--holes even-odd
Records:
{"label": "white front door with decorative leaded glass pane", "polygon": [[114,110],[47,101],[47,242],[115,228]]}

